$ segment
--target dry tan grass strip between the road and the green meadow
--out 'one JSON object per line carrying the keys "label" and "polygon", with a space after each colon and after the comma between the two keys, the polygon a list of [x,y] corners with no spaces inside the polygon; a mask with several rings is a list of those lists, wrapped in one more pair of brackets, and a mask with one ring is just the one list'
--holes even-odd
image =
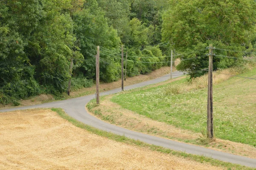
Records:
{"label": "dry tan grass strip between the road and the green meadow", "polygon": [[[197,139],[199,139],[201,136],[201,133],[183,130],[173,125],[158,122],[153,119],[149,119],[146,116],[139,115],[133,111],[122,108],[120,105],[110,101],[112,97],[113,95],[106,96],[105,99],[101,101],[99,106],[93,108],[93,111],[100,111],[101,113],[94,116],[120,127],[125,127],[142,133],[173,140],[194,141],[192,144],[194,144],[195,141],[197,141]],[[200,144],[200,142],[198,144]],[[216,139],[214,142],[210,142],[204,146],[209,149],[256,159],[256,148],[248,144]]]}

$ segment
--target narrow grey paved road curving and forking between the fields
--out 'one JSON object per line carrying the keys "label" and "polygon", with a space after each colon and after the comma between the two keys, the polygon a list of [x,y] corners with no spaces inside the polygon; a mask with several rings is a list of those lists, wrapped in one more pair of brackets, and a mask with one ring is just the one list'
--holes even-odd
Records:
{"label": "narrow grey paved road curving and forking between the fields", "polygon": [[[179,77],[181,74],[178,71],[173,73],[173,77]],[[159,77],[157,79],[153,79],[147,82],[142,82],[135,85],[130,85],[125,87],[126,90],[142,87],[145,85],[154,84],[157,82],[162,82],[169,79],[169,76]],[[103,92],[100,95],[108,95],[120,92],[121,88],[114,89],[111,91]],[[85,123],[86,125],[90,125],[96,127],[101,130],[105,130],[108,132],[112,132],[118,135],[125,135],[129,138],[140,140],[142,142],[146,142],[148,144],[154,144],[157,146],[166,147],[172,150],[179,150],[186,153],[192,153],[196,155],[204,155],[208,157],[212,157],[214,159],[218,159],[221,161],[227,161],[235,164],[241,164],[248,167],[256,167],[256,159],[250,159],[244,156],[237,156],[230,153],[223,153],[216,150],[207,149],[204,147],[195,146],[192,144],[186,144],[181,142],[175,142],[168,139],[162,139],[156,136],[150,136],[143,133],[134,132],[131,130],[127,130],[122,127],[117,127],[115,125],[111,125],[109,123],[103,122],[97,119],[94,116],[91,116],[85,110],[86,103],[90,102],[93,99],[94,95],[79,97],[75,99],[67,99],[57,102],[51,103],[44,103],[41,105],[33,105],[33,106],[26,106],[26,107],[17,107],[17,108],[9,108],[9,109],[1,109],[0,112],[7,112],[7,111],[16,111],[16,110],[25,110],[25,109],[32,109],[32,108],[63,108],[65,112],[72,116],[73,118],[79,120],[80,122]]]}

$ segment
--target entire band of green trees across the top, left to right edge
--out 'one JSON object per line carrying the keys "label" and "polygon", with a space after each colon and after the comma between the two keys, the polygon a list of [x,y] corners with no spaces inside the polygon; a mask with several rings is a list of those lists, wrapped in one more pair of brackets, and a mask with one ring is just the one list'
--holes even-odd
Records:
{"label": "entire band of green trees across the top, left to right edge", "polygon": [[[72,90],[92,85],[97,45],[103,82],[121,77],[121,45],[130,77],[169,65],[172,49],[190,52],[181,59],[198,57],[182,61],[179,70],[201,70],[208,60],[199,57],[209,44],[253,51],[255,23],[255,0],[0,0],[0,103],[61,96],[71,78],[71,61]],[[214,69],[237,63],[214,57]]]}

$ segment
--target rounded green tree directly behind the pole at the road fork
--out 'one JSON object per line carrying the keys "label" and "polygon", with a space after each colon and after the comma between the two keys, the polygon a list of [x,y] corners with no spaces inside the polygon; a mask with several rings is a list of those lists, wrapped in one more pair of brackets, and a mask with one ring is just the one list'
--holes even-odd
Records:
{"label": "rounded green tree directly behind the pole at the road fork", "polygon": [[[95,79],[94,55],[96,54],[96,46],[117,48],[120,44],[120,38],[117,36],[116,30],[112,26],[108,26],[107,19],[100,9],[94,10],[94,14],[91,10],[90,8],[84,8],[73,14],[77,45],[81,48],[81,54],[83,54],[85,59],[81,67],[75,70],[75,73],[83,74],[89,79]],[[102,59],[108,60],[105,57],[107,56],[101,56]],[[106,67],[107,65],[101,62],[100,77],[103,81],[111,82],[119,78],[119,76],[116,76],[116,71],[111,71],[106,69]],[[113,75],[111,75],[111,72]]]}

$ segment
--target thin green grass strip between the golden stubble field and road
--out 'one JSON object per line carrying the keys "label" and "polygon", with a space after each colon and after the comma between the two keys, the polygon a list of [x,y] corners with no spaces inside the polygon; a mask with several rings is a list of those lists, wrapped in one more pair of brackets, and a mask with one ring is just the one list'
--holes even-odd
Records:
{"label": "thin green grass strip between the golden stubble field and road", "polygon": [[228,163],[228,162],[224,162],[224,161],[219,161],[219,160],[208,158],[208,157],[205,157],[205,156],[197,156],[197,155],[187,154],[187,153],[184,153],[184,152],[178,152],[178,151],[166,149],[164,147],[159,147],[159,146],[155,146],[155,145],[151,145],[151,144],[146,144],[146,143],[140,142],[138,140],[129,139],[126,136],[119,136],[119,135],[116,135],[116,134],[113,134],[113,133],[109,133],[109,132],[99,130],[99,129],[96,129],[94,127],[85,125],[85,124],[77,121],[76,119],[73,119],[72,117],[68,116],[60,108],[52,108],[52,111],[57,112],[58,115],[61,116],[61,118],[66,119],[67,121],[69,121],[70,123],[75,125],[76,127],[85,129],[85,130],[89,131],[90,133],[94,133],[96,135],[103,136],[103,137],[106,137],[108,139],[111,139],[111,140],[114,140],[114,141],[117,141],[117,142],[122,142],[122,143],[125,143],[125,144],[131,144],[131,145],[135,145],[135,146],[145,147],[145,148],[148,148],[148,149],[153,150],[153,151],[158,151],[158,152],[161,152],[161,153],[170,154],[170,155],[178,156],[178,157],[181,157],[181,158],[186,158],[186,159],[193,160],[193,161],[198,161],[198,162],[201,162],[201,163],[206,163],[206,164],[208,163],[208,164],[211,164],[213,166],[223,167],[223,168],[228,169],[228,170],[232,170],[232,169],[253,170],[254,169],[254,168],[250,168],[250,167],[241,166],[239,164],[232,164],[232,163]]}

